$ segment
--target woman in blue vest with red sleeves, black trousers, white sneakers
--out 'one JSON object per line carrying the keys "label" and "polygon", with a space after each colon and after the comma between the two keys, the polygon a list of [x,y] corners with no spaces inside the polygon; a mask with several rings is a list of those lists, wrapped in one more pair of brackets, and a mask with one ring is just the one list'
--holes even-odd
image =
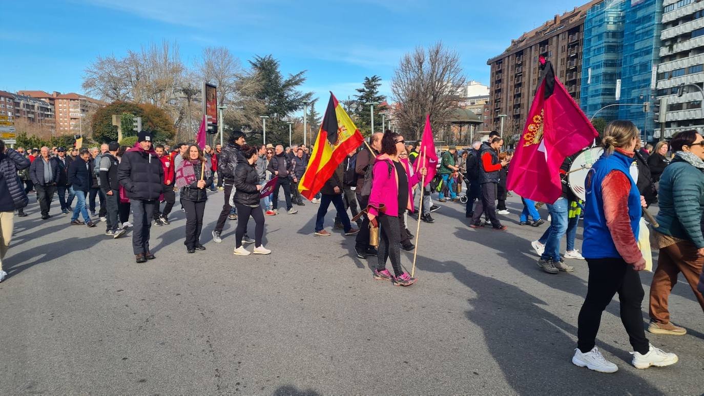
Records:
{"label": "woman in blue vest with red sleeves, black trousers, white sneakers", "polygon": [[602,373],[618,370],[595,345],[601,313],[616,293],[621,321],[635,351],[632,363],[636,369],[677,363],[677,355],[663,352],[648,342],[643,328],[644,293],[639,271],[645,268],[646,260],[636,238],[641,207],[646,203],[629,173],[638,134],[630,121],[610,122],[603,134],[604,153],[584,182],[582,254],[589,265],[589,285],[577,319],[577,349],[572,363]]}

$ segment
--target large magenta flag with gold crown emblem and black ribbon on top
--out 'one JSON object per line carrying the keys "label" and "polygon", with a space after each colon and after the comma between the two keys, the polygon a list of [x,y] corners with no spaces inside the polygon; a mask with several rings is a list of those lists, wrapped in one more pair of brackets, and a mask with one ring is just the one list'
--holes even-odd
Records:
{"label": "large magenta flag with gold crown emblem and black ribbon on top", "polygon": [[542,56],[541,80],[508,172],[508,190],[554,203],[562,193],[560,165],[591,145],[598,132]]}

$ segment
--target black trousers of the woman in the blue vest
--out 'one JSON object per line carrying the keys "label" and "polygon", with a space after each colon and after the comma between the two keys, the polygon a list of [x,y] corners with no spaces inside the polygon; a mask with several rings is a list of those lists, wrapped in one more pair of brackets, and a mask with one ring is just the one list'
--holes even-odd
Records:
{"label": "black trousers of the woman in the blue vest", "polygon": [[592,350],[601,324],[601,313],[618,293],[621,321],[636,352],[648,353],[648,338],[643,330],[643,285],[641,276],[622,258],[586,259],[589,285],[584,305],[577,319],[577,347],[583,353]]}

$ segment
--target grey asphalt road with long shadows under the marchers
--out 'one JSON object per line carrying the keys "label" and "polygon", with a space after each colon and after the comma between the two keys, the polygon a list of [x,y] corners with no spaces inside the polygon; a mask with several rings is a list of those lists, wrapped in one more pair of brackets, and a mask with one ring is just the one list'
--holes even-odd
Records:
{"label": "grey asphalt road with long shadows under the marchers", "polygon": [[[542,272],[530,241],[547,224],[518,226],[516,198],[503,232],[469,229],[460,204],[440,205],[436,222],[421,225],[418,282],[401,288],[372,279],[376,258],[353,256],[353,237],[332,230],[332,205],[332,236],[313,236],[318,205],[308,203],[297,215],[266,218],[271,255],[240,257],[234,222],[222,243],[210,239],[222,206],[213,193],[208,250],[186,254],[177,211],[171,225],[151,229],[157,259],[136,264],[131,233],[113,240],[104,224],[42,221],[32,203],[29,217],[15,217],[10,276],[0,283],[0,394],[704,392],[703,314],[684,279],[670,309],[689,333],[649,335],[678,364],[631,366],[614,301],[598,346],[620,370],[579,368],[571,358],[586,262],[570,260],[572,274]],[[408,269],[412,258],[403,252]],[[641,275],[646,296],[651,277]]]}

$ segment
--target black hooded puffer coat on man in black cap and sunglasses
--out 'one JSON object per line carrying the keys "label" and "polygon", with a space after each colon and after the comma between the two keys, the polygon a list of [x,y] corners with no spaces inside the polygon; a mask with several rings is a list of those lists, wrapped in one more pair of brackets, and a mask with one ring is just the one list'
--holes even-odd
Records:
{"label": "black hooded puffer coat on man in black cap and sunglasses", "polygon": [[122,155],[118,179],[127,190],[127,198],[156,200],[164,189],[164,168],[154,151],[132,148]]}

